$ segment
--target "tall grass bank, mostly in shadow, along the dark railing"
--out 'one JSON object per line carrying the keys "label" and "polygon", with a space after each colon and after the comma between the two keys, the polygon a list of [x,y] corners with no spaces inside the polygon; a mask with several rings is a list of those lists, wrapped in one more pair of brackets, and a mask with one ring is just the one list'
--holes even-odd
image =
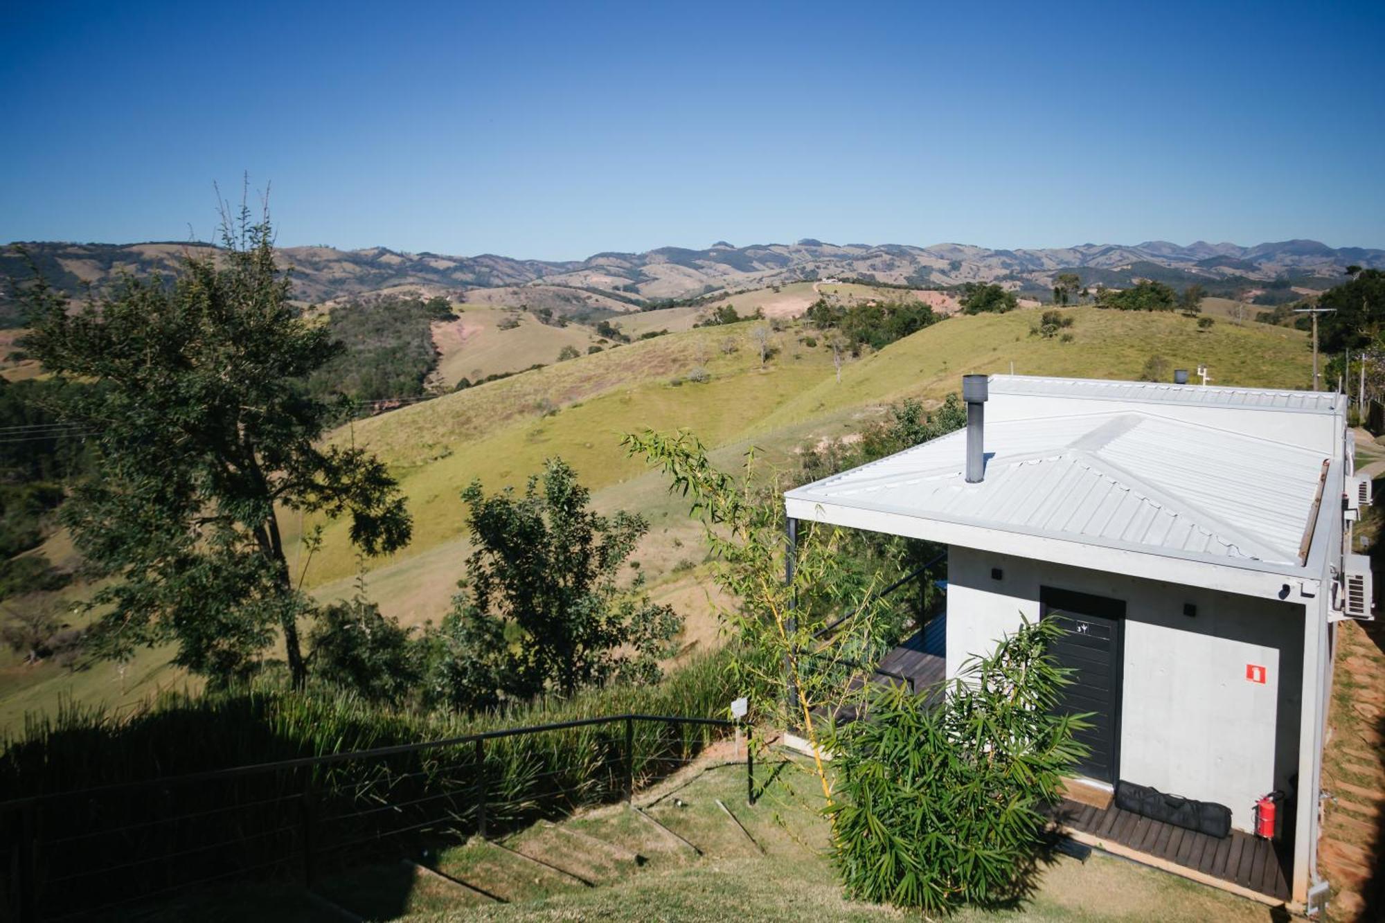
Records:
{"label": "tall grass bank, mostly in shadow, along the dark railing", "polygon": [[[328,687],[166,696],[120,719],[66,704],[0,754],[6,797],[54,795],[0,804],[0,854],[14,859],[0,868],[35,869],[42,912],[58,915],[219,877],[418,858],[475,833],[482,816],[493,834],[616,800],[632,780],[684,765],[722,729],[633,722],[627,747],[616,721],[194,783],[176,776],[602,715],[723,718],[738,694],[729,657],[694,660],[656,685],[478,717],[381,710]],[[151,780],[162,782],[101,791]]]}

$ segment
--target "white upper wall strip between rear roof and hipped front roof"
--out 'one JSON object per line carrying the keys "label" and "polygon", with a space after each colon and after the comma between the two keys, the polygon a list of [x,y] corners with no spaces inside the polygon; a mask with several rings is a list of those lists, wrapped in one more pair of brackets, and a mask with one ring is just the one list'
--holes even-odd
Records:
{"label": "white upper wall strip between rear roof and hipped front roof", "polygon": [[1043,417],[1084,413],[1122,413],[1138,409],[1169,420],[1197,423],[1231,432],[1276,439],[1288,445],[1314,449],[1327,457],[1342,453],[1343,420],[1330,413],[1294,410],[1251,410],[1224,406],[1102,401],[1091,398],[1061,398],[1054,395],[1021,395],[992,392],[986,402],[986,421],[1036,420]]}

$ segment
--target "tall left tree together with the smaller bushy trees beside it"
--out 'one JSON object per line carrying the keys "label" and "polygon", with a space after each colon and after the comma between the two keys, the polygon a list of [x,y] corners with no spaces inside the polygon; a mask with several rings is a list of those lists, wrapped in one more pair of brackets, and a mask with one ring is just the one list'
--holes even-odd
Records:
{"label": "tall left tree together with the smaller bushy trees beside it", "polygon": [[[220,256],[188,258],[172,285],[126,279],[80,309],[42,280],[25,291],[22,345],[62,392],[57,419],[86,438],[58,517],[100,579],[87,653],[126,660],[172,643],[177,664],[226,686],[262,672],[283,643],[294,687],[317,671],[397,701],[427,678],[429,701],[461,708],[655,675],[676,618],[638,575],[620,579],[647,525],[587,511],[561,461],[522,498],[467,489],[478,550],[436,631],[410,636],[363,595],[321,608],[301,592],[285,510],[349,518],[364,557],[407,545],[413,521],[378,457],[324,442],[332,406],[306,383],[346,348],[291,302],[270,241],[269,222],[242,211]],[[381,305],[416,320],[450,315],[440,299]],[[305,536],[309,552],[320,543]],[[312,626],[307,650],[301,625]]]}

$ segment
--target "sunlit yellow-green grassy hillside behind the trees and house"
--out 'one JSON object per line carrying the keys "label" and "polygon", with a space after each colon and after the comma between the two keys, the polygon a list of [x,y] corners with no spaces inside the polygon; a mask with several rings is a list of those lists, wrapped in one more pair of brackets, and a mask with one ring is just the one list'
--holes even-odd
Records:
{"label": "sunlit yellow-green grassy hillside behind the trees and house", "polygon": [[[400,478],[416,518],[413,545],[371,563],[368,592],[406,624],[436,621],[456,592],[468,552],[460,491],[472,478],[489,489],[519,485],[543,459],[561,455],[593,489],[598,509],[637,510],[651,521],[637,554],[641,567],[655,596],[688,617],[684,643],[706,646],[715,642],[716,626],[708,615],[698,527],[661,477],[625,457],[623,432],[688,427],[723,466],[734,466],[752,445],[783,457],[807,439],[857,428],[891,401],[940,399],[958,388],[964,373],[1010,371],[1011,362],[1021,374],[1136,378],[1150,355],[1159,353],[1172,367],[1205,362],[1217,384],[1307,384],[1312,356],[1306,335],[1296,330],[1219,322],[1199,331],[1195,320],[1179,315],[1068,312],[1075,319],[1073,342],[1030,335],[1033,310],[950,317],[849,362],[841,384],[831,355],[821,345],[805,345],[807,331],[799,327],[776,334],[780,352],[766,369],[748,340],[755,324],[701,327],[359,420],[332,438],[378,452]],[[478,313],[468,308],[463,317]],[[738,344],[735,352],[723,352],[727,340]],[[535,360],[551,360],[557,348],[551,352]],[[694,369],[706,369],[709,381],[686,381]],[[285,517],[295,572],[306,565],[306,585],[320,597],[349,596],[356,560],[345,527],[328,525],[323,550],[312,561],[295,561],[305,525],[310,522]],[[62,693],[83,701],[129,701],[155,683],[183,682],[155,651],[141,654],[123,678],[112,665],[75,676],[47,665],[39,668],[43,672],[28,669],[0,661],[0,728],[12,725],[25,708],[51,707]]]}

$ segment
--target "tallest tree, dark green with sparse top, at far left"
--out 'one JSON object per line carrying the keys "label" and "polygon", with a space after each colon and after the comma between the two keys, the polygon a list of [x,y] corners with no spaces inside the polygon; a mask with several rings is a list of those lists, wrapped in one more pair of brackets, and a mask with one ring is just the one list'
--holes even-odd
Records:
{"label": "tallest tree, dark green with sparse top, at far left", "polygon": [[331,407],[302,381],[338,355],[289,301],[267,218],[223,226],[217,256],[183,274],[126,277],[69,310],[26,292],[24,348],[58,378],[84,380],[64,417],[80,423],[94,475],[62,510],[86,561],[109,578],[91,599],[98,654],[176,640],[176,661],[215,680],[245,674],[277,626],[294,682],[306,665],[278,510],[350,517],[366,554],[409,542],[410,517],[384,463],[323,445]]}

